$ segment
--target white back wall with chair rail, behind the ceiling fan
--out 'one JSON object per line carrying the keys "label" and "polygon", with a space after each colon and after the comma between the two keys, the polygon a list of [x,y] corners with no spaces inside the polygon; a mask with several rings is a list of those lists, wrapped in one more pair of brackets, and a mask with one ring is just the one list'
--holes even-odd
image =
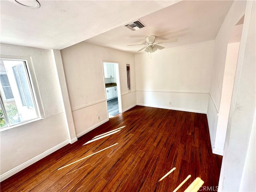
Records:
{"label": "white back wall with chair rail, behind the ceiling fan", "polygon": [[137,104],[206,113],[213,51],[214,40],[135,55]]}

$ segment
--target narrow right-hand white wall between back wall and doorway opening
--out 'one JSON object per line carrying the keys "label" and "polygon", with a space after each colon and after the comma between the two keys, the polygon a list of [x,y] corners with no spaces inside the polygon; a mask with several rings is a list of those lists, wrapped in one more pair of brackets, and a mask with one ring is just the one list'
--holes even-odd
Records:
{"label": "narrow right-hand white wall between back wall and doorway opening", "polygon": [[[213,62],[212,77],[211,77],[211,83],[210,83],[210,97],[208,101],[207,119],[208,119],[212,150],[216,154],[223,154],[223,148],[221,148],[224,142],[223,137],[221,141],[222,144],[217,144],[219,148],[215,148],[215,145],[216,145],[218,113],[220,111],[220,99],[221,99],[221,90],[223,86],[222,84],[223,84],[223,77],[224,77],[227,47],[228,47],[228,42],[230,40],[230,35],[234,26],[240,20],[240,18],[244,15],[245,6],[246,6],[246,1],[233,2],[215,39],[214,62]],[[217,140],[218,142],[220,142],[219,138],[217,138]]]}

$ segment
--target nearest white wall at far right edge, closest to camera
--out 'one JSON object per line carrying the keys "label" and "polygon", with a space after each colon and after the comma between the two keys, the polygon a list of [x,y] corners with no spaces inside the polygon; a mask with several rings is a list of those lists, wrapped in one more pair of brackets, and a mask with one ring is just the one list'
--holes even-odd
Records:
{"label": "nearest white wall at far right edge, closest to camera", "polygon": [[[234,1],[231,11],[238,12],[241,2]],[[250,149],[250,140],[255,140],[252,131],[256,107],[256,14],[255,1],[246,2],[244,27],[240,42],[238,62],[230,115],[220,171],[218,191],[238,191],[246,183],[243,175],[250,169],[255,171],[255,164],[246,164],[246,158],[255,157]],[[229,13],[230,14],[230,13]],[[228,18],[230,15],[226,18]],[[224,21],[225,22],[225,21]],[[250,159],[250,161],[256,161]],[[249,166],[249,167],[247,167]],[[251,175],[255,174],[252,173]],[[255,180],[251,183],[255,185]],[[240,188],[241,186],[241,188]]]}

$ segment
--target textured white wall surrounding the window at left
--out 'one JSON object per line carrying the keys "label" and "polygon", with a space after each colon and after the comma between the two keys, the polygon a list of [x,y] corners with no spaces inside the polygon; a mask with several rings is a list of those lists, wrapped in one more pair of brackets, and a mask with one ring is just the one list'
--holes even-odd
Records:
{"label": "textured white wall surrounding the window at left", "polygon": [[[1,44],[1,54],[31,57],[45,118],[1,131],[1,178],[25,168],[21,164],[68,144],[60,92],[50,50]],[[66,142],[67,141],[67,142]],[[56,147],[57,146],[57,147]],[[54,148],[54,149],[53,149]],[[38,158],[39,159],[39,158]],[[19,168],[17,168],[17,166]],[[13,170],[14,169],[14,170]]]}

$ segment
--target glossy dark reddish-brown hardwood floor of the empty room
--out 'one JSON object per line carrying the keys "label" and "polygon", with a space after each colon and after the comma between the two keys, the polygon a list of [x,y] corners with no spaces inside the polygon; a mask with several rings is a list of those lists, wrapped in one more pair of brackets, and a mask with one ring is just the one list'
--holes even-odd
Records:
{"label": "glossy dark reddish-brown hardwood floor of the empty room", "polygon": [[212,154],[205,114],[136,106],[4,180],[1,191],[172,192],[191,175],[182,192],[197,177],[218,186],[221,161]]}

